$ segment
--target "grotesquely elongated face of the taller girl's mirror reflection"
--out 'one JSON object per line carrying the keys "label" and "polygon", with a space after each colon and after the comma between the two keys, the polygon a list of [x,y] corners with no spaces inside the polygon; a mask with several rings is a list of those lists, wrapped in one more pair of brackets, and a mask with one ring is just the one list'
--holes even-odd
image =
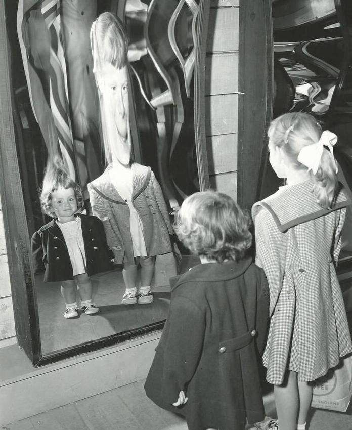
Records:
{"label": "grotesquely elongated face of the taller girl's mirror reflection", "polygon": [[131,147],[127,67],[117,69],[105,63],[99,72],[98,81],[104,100],[103,120],[106,121],[113,159],[128,164]]}

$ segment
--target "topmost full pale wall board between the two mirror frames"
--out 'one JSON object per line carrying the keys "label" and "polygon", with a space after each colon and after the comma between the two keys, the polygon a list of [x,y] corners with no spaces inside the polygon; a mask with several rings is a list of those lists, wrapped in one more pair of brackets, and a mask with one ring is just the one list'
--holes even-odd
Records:
{"label": "topmost full pale wall board between the two mirror frames", "polygon": [[239,9],[210,9],[207,52],[238,51]]}

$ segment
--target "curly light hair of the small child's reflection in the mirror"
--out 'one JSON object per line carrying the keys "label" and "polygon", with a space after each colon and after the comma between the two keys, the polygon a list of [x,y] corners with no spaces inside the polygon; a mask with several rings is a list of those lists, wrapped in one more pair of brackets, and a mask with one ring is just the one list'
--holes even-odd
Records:
{"label": "curly light hair of the small child's reflection in the mirror", "polygon": [[71,179],[66,172],[55,167],[47,168],[41,185],[40,204],[42,212],[52,218],[56,216],[51,207],[53,192],[59,188],[64,188],[65,190],[73,188],[76,195],[77,208],[80,209],[83,206],[83,194],[80,185]]}

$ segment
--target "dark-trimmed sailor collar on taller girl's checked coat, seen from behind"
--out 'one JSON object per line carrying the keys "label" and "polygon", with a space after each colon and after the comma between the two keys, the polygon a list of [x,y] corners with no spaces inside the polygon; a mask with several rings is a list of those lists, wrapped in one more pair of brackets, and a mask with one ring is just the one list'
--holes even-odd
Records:
{"label": "dark-trimmed sailor collar on taller girl's checked coat, seen from behind", "polygon": [[265,208],[272,214],[278,229],[285,233],[298,224],[322,217],[351,204],[349,196],[343,191],[342,184],[339,183],[340,189],[333,207],[324,209],[316,202],[313,185],[313,181],[309,180],[300,184],[280,187],[275,194],[254,203],[252,207],[253,220],[259,210]]}

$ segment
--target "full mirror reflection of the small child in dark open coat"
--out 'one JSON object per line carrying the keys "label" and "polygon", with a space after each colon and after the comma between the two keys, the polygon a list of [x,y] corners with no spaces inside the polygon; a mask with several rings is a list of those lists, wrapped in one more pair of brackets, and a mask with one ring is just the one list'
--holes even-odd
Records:
{"label": "full mirror reflection of the small child in dark open coat", "polygon": [[81,188],[61,171],[45,176],[40,201],[43,212],[55,219],[32,236],[35,273],[44,266],[44,282],[61,281],[65,318],[79,316],[75,281],[80,309],[95,314],[99,308],[92,304],[89,276],[111,269],[103,225],[96,217],[76,214],[82,207]]}

